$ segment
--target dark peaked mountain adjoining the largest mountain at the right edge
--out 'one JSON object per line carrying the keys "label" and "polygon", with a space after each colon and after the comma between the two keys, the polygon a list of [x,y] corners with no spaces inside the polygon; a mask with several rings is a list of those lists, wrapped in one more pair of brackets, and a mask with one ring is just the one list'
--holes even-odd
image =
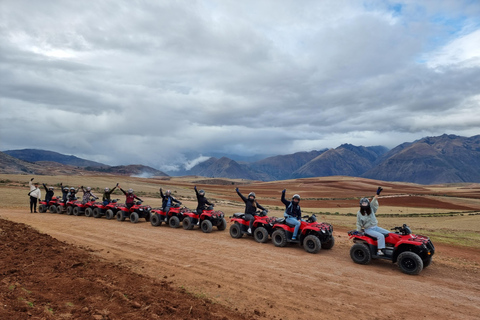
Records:
{"label": "dark peaked mountain adjoining the largest mountain at the right edge", "polygon": [[357,147],[342,144],[312,159],[292,173],[293,178],[324,176],[358,177],[370,170],[377,159],[388,149],[385,147]]}

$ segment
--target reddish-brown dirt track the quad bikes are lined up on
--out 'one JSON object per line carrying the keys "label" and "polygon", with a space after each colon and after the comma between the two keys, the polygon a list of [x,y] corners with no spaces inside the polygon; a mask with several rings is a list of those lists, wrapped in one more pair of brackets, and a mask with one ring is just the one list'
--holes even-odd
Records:
{"label": "reddish-brown dirt track the quad bikes are lined up on", "polygon": [[344,232],[335,234],[332,250],[312,255],[251,238],[235,240],[228,229],[203,234],[24,210],[0,209],[0,216],[231,308],[257,310],[258,318],[478,319],[480,314],[479,250],[437,245],[432,265],[408,276],[391,263],[354,264]]}

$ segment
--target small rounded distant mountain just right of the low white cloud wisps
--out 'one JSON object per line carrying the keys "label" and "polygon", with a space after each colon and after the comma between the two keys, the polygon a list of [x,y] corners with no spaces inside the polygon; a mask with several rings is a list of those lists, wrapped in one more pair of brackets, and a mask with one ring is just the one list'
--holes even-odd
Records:
{"label": "small rounded distant mountain just right of the low white cloud wisps", "polygon": [[239,164],[227,157],[220,159],[212,157],[194,166],[188,171],[188,174],[209,178],[263,180],[262,174],[257,174],[249,169],[248,166]]}

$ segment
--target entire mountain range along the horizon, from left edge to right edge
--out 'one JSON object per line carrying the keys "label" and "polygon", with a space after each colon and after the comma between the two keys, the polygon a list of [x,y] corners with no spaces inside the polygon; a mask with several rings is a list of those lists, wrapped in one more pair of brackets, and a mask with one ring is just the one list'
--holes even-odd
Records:
{"label": "entire mountain range along the horizon, from left edge to right edge", "polygon": [[[21,162],[16,163],[15,160]],[[108,174],[167,176],[166,173],[147,166],[112,167],[36,149],[0,153],[0,172],[35,173],[42,171],[42,166],[47,163],[52,165],[52,161],[62,164],[61,167],[66,172],[69,168],[83,168]],[[461,137],[444,134],[426,137],[403,143],[391,150],[382,146],[343,144],[334,149],[278,155],[253,162],[237,162],[225,156],[211,157],[181,173],[262,181],[353,176],[420,184],[480,182],[480,135]]]}

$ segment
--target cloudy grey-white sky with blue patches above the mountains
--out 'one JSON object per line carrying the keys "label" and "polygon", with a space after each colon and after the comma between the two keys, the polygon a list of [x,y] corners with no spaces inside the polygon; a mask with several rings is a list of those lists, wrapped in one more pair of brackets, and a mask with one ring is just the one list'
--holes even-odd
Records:
{"label": "cloudy grey-white sky with blue patches above the mountains", "polygon": [[480,1],[0,1],[0,150],[171,169],[480,134]]}

